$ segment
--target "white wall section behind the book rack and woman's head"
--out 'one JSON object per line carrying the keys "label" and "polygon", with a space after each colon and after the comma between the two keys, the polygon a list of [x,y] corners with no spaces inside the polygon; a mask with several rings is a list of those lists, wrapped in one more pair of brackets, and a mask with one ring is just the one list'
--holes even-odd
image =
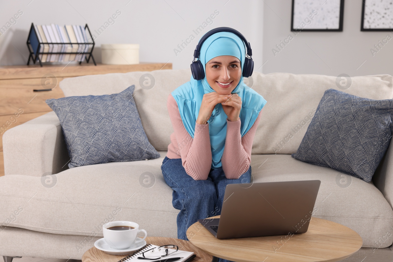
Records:
{"label": "white wall section behind the book rack and woman's head", "polygon": [[[198,4],[196,4],[198,3]],[[101,62],[101,44],[140,44],[141,62],[170,62],[173,69],[190,68],[193,53],[200,37],[209,30],[227,26],[240,31],[251,43],[255,70],[262,65],[263,2],[260,0],[0,0],[0,26],[22,10],[15,25],[0,36],[0,65],[26,64],[26,40],[31,23],[88,24],[97,37],[93,55]],[[112,14],[121,14],[98,35],[98,29]],[[217,10],[219,15],[196,35],[206,19]],[[217,12],[216,11],[216,12]],[[193,35],[194,40],[177,55],[174,52]],[[179,49],[180,50],[180,49]],[[259,70],[262,71],[262,68]]]}

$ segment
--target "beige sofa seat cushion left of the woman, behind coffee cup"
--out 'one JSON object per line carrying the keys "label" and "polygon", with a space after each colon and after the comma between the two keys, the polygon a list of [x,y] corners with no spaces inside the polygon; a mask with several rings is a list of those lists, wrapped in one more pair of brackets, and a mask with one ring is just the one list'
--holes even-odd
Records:
{"label": "beige sofa seat cushion left of the woman, behind coffee cup", "polygon": [[2,176],[0,231],[12,226],[102,237],[103,224],[127,220],[148,236],[177,237],[178,210],[160,169],[166,152],[159,153],[156,159],[87,165],[51,176]]}

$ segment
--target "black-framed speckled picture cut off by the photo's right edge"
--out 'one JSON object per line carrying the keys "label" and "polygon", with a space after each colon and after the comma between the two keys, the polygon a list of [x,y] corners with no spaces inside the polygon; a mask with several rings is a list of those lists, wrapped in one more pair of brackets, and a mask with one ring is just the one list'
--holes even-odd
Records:
{"label": "black-framed speckled picture cut off by the photo's right edge", "polygon": [[391,31],[393,6],[391,1],[363,0],[360,31]]}

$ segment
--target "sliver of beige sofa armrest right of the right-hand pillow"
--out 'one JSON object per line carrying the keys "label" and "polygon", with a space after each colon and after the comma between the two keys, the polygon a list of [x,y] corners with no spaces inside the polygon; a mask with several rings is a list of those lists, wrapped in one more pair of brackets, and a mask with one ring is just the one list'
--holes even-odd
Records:
{"label": "sliver of beige sofa armrest right of the right-hand pillow", "polygon": [[373,175],[373,183],[393,208],[393,141]]}

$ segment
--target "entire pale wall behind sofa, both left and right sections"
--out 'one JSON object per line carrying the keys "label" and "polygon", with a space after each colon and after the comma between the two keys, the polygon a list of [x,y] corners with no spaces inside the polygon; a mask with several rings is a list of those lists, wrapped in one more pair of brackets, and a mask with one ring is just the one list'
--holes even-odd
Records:
{"label": "entire pale wall behind sofa, both left and right sections", "polygon": [[[393,37],[393,33],[360,31],[362,1],[345,0],[343,32],[300,32],[275,56],[272,48],[289,34],[294,35],[290,31],[292,0],[201,0],[198,5],[191,3],[184,0],[0,0],[0,26],[18,10],[23,11],[17,23],[0,36],[0,65],[26,63],[26,40],[31,22],[87,23],[94,32],[119,10],[121,15],[114,24],[101,35],[96,34],[93,53],[98,62],[101,61],[101,44],[138,43],[142,62],[171,62],[174,69],[189,68],[201,35],[215,27],[228,26],[241,31],[251,43],[254,70],[259,72],[333,76],[393,73],[393,40],[374,56],[370,51],[386,35]],[[193,30],[215,10],[219,15],[196,35]],[[191,34],[195,39],[176,55],[174,49]]]}

